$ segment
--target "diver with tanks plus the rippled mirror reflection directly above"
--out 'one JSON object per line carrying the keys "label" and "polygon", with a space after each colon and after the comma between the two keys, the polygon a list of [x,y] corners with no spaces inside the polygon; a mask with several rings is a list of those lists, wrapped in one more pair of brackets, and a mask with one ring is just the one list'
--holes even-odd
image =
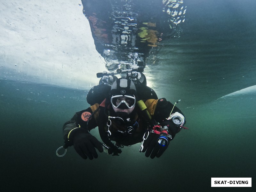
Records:
{"label": "diver with tanks plus the rippled mirror reflection directly above", "polygon": [[[124,146],[140,143],[146,157],[160,157],[176,133],[187,129],[183,113],[165,98],[158,99],[142,73],[156,63],[164,39],[179,36],[184,22],[183,1],[98,1],[82,0],[97,52],[106,69],[98,73],[99,85],[86,100],[89,108],[76,112],[63,126],[64,156],[69,146],[84,159],[99,152],[118,156]],[[121,75],[117,78],[115,75]],[[98,127],[102,142],[90,131]],[[64,148],[60,155],[58,151]]]}

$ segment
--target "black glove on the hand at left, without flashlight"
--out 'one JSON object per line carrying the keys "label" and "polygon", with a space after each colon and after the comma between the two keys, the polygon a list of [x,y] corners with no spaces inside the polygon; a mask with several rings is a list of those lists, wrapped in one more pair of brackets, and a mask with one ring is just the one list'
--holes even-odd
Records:
{"label": "black glove on the hand at left, without flashlight", "polygon": [[97,148],[100,153],[103,152],[100,141],[92,136],[86,129],[77,128],[73,130],[70,134],[70,140],[73,143],[76,152],[83,159],[87,159],[87,157],[90,160],[92,160],[93,157],[98,158],[95,148]]}

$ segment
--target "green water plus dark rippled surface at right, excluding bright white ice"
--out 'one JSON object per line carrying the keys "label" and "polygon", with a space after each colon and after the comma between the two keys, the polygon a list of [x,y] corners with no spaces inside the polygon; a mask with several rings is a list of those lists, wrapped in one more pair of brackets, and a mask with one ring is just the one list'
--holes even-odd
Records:
{"label": "green water plus dark rippled surface at right, excluding bright white ice", "polygon": [[[0,79],[1,191],[253,191],[256,135],[254,1],[189,1],[180,38],[165,41],[145,69],[158,97],[187,119],[164,155],[84,160],[62,125],[87,108],[88,90]],[[1,69],[1,68],[0,68]],[[94,78],[94,77],[92,77]],[[96,77],[95,77],[96,78]],[[241,91],[239,91],[241,90]],[[232,93],[232,94],[231,94]],[[92,134],[98,137],[97,130]],[[211,177],[252,177],[252,188],[211,188]]]}

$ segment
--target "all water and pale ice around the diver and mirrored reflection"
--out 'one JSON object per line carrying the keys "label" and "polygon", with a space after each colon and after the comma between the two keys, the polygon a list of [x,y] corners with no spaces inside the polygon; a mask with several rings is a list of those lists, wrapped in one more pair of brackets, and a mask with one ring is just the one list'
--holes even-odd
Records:
{"label": "all water and pale ice around the diver and mirrored reflection", "polygon": [[[1,191],[255,190],[256,1],[184,0],[180,37],[144,74],[159,98],[181,100],[189,129],[160,158],[138,143],[92,161],[55,154],[105,70],[81,1],[0,4]],[[252,188],[211,188],[212,177],[252,177]]]}

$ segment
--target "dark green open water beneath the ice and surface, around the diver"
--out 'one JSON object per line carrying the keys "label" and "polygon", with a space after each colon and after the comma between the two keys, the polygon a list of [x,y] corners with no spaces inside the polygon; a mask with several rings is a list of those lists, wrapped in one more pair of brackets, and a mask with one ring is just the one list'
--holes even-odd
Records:
{"label": "dark green open water beneath the ice and surface, around the diver", "polygon": [[[161,158],[146,158],[136,144],[90,161],[73,147],[55,155],[63,123],[88,107],[86,91],[4,79],[0,87],[3,191],[130,191],[127,183],[138,191],[215,191],[211,177],[254,182],[255,91],[181,108],[189,130]],[[98,137],[97,130],[92,134]]]}

